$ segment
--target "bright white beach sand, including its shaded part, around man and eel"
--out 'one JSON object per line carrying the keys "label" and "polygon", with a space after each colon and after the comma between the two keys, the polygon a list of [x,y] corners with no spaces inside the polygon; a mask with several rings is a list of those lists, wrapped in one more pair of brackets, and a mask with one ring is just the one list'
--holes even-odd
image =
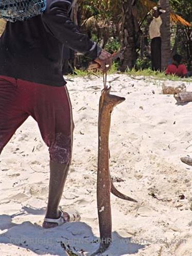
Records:
{"label": "bright white beach sand, including its shaded part, around man and eel", "polygon": [[[161,94],[160,81],[111,75],[114,94],[126,101],[114,109],[110,132],[110,171],[114,182],[138,204],[111,196],[113,243],[108,256],[191,256],[192,102],[177,105]],[[173,82],[174,83],[174,82]],[[192,90],[192,83],[185,83]],[[96,86],[96,87],[95,87]],[[29,118],[1,155],[0,254],[64,255],[61,241],[93,252],[99,237],[96,202],[97,119],[102,79],[68,82],[75,123],[73,160],[62,206],[77,209],[80,223],[44,230],[49,181],[48,150]],[[155,94],[152,94],[154,90]],[[158,199],[153,198],[154,193]],[[180,195],[184,199],[180,199]],[[77,255],[81,255],[76,253]]]}

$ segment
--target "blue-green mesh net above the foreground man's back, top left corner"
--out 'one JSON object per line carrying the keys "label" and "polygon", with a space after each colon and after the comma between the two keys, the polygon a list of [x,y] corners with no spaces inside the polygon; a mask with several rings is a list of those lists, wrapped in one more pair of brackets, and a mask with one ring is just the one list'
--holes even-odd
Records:
{"label": "blue-green mesh net above the foreground man's back, top left corner", "polygon": [[46,0],[0,0],[0,18],[9,21],[26,21],[46,9]]}

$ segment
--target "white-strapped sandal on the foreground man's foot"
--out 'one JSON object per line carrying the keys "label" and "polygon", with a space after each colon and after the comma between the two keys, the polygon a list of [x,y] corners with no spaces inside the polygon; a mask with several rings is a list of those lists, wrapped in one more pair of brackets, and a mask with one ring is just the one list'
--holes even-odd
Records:
{"label": "white-strapped sandal on the foreground man's foot", "polygon": [[77,211],[64,212],[59,209],[61,215],[59,218],[44,218],[43,228],[59,227],[67,222],[79,222],[81,217]]}

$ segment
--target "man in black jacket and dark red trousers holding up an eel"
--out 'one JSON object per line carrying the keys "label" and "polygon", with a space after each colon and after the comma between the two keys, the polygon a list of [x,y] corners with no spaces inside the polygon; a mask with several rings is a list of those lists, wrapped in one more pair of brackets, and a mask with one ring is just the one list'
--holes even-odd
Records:
{"label": "man in black jacket and dark red trousers holding up an eel", "polygon": [[47,0],[43,13],[35,13],[24,22],[7,22],[0,40],[0,153],[18,127],[32,116],[50,153],[44,228],[80,219],[78,214],[69,215],[59,208],[73,133],[71,104],[62,76],[63,45],[99,63],[103,72],[112,63],[111,54],[71,22],[71,4],[72,0]]}

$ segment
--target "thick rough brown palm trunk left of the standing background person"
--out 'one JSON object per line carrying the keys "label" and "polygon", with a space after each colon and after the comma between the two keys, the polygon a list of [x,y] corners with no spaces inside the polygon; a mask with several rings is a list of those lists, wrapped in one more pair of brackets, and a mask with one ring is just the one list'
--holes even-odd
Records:
{"label": "thick rough brown palm trunk left of the standing background person", "polygon": [[121,63],[121,71],[125,71],[127,68],[131,69],[135,66],[137,60],[135,17],[131,10],[132,2],[133,1],[131,0],[124,0],[122,4],[123,19],[121,25],[121,45],[122,48],[125,48],[125,51]]}

